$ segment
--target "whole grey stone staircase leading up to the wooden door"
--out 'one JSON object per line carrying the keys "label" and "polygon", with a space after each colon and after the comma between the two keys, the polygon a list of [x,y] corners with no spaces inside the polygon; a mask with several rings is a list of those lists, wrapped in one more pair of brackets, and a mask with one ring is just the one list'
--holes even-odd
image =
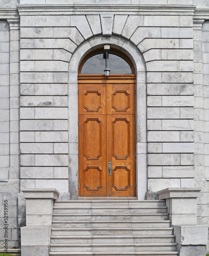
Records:
{"label": "whole grey stone staircase leading up to the wooden door", "polygon": [[177,255],[165,201],[55,201],[49,255]]}

